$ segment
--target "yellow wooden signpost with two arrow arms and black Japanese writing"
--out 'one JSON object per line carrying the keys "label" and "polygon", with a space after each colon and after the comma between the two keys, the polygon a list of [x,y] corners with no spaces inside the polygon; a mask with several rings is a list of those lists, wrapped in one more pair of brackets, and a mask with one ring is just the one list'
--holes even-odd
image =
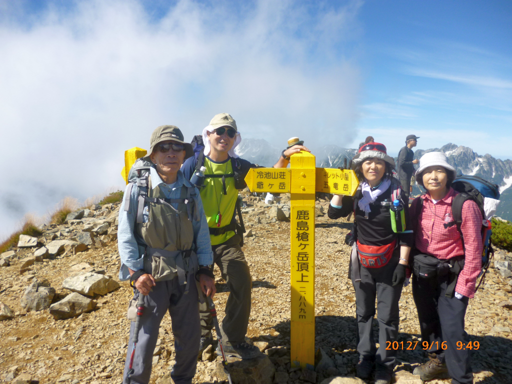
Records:
{"label": "yellow wooden signpost with two arrow arms and black Japanese writing", "polygon": [[291,194],[291,362],[315,360],[315,192],[353,196],[352,170],[315,168],[308,152],[292,155],[290,168],[252,168],[245,178],[253,192]]}

